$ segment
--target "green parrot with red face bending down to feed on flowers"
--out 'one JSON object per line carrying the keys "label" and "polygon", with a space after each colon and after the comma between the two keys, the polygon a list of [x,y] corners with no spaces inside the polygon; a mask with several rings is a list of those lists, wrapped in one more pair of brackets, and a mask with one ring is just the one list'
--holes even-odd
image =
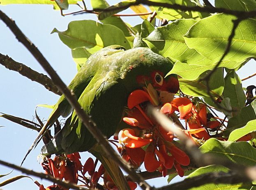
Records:
{"label": "green parrot with red face bending down to feed on flowers", "polygon": [[[149,48],[125,50],[122,46],[112,45],[92,54],[68,87],[78,98],[83,110],[109,138],[120,124],[127,98],[132,91],[151,83],[158,92],[166,91],[174,94],[178,92],[177,77],[170,75],[164,78],[172,67],[173,63],[170,60],[153,53]],[[76,111],[69,105],[64,95],[55,104],[53,112],[32,147],[38,144],[46,129],[52,126],[60,116],[69,117],[53,140],[44,145],[41,153],[43,155],[69,154],[89,150],[101,163],[105,163],[105,168],[110,167],[111,161],[101,155],[102,151],[97,151],[97,148],[91,149],[96,144],[96,140],[78,118]],[[107,170],[110,175],[112,173],[113,178],[120,169],[115,163],[112,165],[115,169],[112,167],[112,171],[109,168]],[[120,184],[126,183],[122,180]],[[120,184],[116,184],[118,188],[125,189]]]}

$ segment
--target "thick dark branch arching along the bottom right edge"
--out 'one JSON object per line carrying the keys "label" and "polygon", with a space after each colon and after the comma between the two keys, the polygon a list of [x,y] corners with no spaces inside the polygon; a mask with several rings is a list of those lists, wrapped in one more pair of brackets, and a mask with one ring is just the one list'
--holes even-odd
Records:
{"label": "thick dark branch arching along the bottom right edge", "polygon": [[238,173],[225,173],[225,172],[211,172],[207,174],[202,174],[199,176],[186,178],[184,181],[178,183],[173,183],[171,185],[166,185],[157,190],[170,190],[170,189],[179,189],[186,190],[194,187],[199,187],[208,183],[224,183],[224,184],[237,184],[237,183],[246,183],[251,182],[246,176],[240,175]]}

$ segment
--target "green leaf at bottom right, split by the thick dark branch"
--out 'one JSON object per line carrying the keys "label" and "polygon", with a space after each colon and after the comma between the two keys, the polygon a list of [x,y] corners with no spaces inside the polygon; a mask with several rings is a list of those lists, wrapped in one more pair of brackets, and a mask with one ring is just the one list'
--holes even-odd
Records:
{"label": "green leaf at bottom right, split by the thick dark branch", "polygon": [[[200,167],[196,169],[193,173],[187,176],[187,178],[196,177],[202,174],[207,174],[209,172],[226,172],[227,173],[228,171],[229,169],[224,166],[210,165],[210,166]],[[242,183],[238,183],[238,184],[208,183],[196,188],[190,188],[189,190],[234,190],[234,189],[245,190],[245,189],[250,189],[251,187],[252,187],[251,185],[244,186],[244,184]]]}

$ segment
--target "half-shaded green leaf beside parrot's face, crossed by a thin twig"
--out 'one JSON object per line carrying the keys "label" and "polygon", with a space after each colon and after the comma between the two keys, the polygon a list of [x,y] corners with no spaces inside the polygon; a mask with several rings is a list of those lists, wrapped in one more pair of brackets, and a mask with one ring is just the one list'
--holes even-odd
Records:
{"label": "half-shaded green leaf beside parrot's face, crossed by a thin twig", "polygon": [[[208,71],[203,73],[201,77],[208,74]],[[198,82],[198,80],[185,80],[179,78],[180,90],[189,96],[196,97],[210,97],[207,91],[207,85],[205,81]],[[221,96],[224,89],[224,76],[221,68],[218,68],[209,80],[210,93],[214,97]]]}

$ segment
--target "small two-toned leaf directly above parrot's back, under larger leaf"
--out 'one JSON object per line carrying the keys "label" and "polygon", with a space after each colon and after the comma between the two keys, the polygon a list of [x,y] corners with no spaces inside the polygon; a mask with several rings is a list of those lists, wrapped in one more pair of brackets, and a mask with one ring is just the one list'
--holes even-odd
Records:
{"label": "small two-toned leaf directly above parrot's back, under larger leaf", "polygon": [[89,53],[86,48],[76,48],[71,50],[72,57],[76,63],[76,69],[79,70],[81,66],[86,62],[86,60],[92,55]]}

